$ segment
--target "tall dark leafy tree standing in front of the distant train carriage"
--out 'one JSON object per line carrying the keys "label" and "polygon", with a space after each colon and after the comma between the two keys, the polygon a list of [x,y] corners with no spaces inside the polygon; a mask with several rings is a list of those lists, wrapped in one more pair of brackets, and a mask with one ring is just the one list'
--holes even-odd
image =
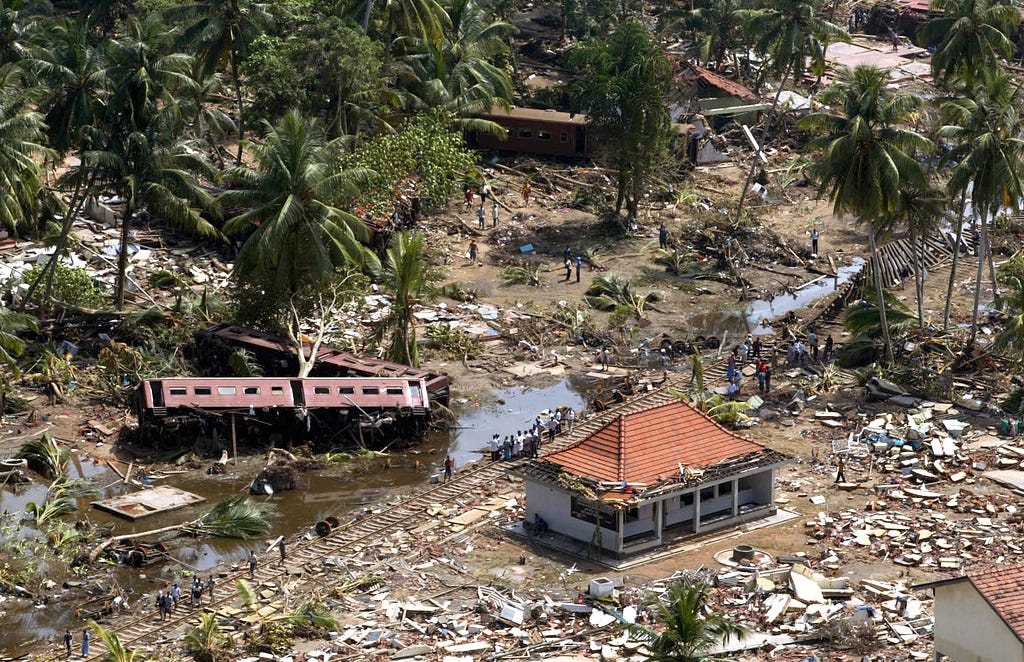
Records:
{"label": "tall dark leafy tree standing in front of the distant train carriage", "polygon": [[618,24],[608,38],[573,48],[568,61],[578,76],[573,109],[587,113],[599,154],[616,173],[615,212],[625,205],[628,217],[636,218],[646,187],[668,157],[672,65],[635,18]]}

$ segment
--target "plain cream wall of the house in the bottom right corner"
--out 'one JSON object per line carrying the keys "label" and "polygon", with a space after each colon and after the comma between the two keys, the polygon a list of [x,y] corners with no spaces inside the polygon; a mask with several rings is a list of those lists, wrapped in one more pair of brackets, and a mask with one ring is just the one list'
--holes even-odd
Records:
{"label": "plain cream wall of the house in the bottom right corner", "polygon": [[935,652],[953,662],[1024,661],[1024,645],[969,581],[935,589]]}

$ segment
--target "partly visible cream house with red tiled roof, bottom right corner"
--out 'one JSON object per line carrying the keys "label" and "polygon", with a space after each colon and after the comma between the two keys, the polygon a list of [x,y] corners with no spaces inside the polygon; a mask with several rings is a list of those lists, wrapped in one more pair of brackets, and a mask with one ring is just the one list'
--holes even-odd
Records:
{"label": "partly visible cream house with red tiled roof, bottom right corner", "polygon": [[915,588],[935,591],[936,662],[1024,662],[1024,565]]}

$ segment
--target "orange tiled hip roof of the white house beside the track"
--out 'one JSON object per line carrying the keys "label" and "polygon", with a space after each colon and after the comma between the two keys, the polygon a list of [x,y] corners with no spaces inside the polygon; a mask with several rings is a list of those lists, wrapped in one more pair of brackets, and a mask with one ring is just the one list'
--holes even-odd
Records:
{"label": "orange tiled hip roof of the white house beside the track", "polygon": [[681,400],[617,416],[590,437],[545,455],[568,473],[605,483],[653,485],[679,464],[700,468],[764,451]]}

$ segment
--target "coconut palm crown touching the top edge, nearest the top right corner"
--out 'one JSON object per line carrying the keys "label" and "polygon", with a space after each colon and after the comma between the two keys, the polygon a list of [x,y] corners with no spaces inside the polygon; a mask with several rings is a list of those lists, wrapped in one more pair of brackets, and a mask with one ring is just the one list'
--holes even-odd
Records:
{"label": "coconut palm crown touching the top edge, nearest the top right corner", "polygon": [[936,0],[942,14],[918,32],[925,46],[938,44],[932,55],[932,75],[949,81],[961,77],[969,85],[985,70],[1014,54],[1013,37],[1021,16],[1015,3],[1002,0]]}

